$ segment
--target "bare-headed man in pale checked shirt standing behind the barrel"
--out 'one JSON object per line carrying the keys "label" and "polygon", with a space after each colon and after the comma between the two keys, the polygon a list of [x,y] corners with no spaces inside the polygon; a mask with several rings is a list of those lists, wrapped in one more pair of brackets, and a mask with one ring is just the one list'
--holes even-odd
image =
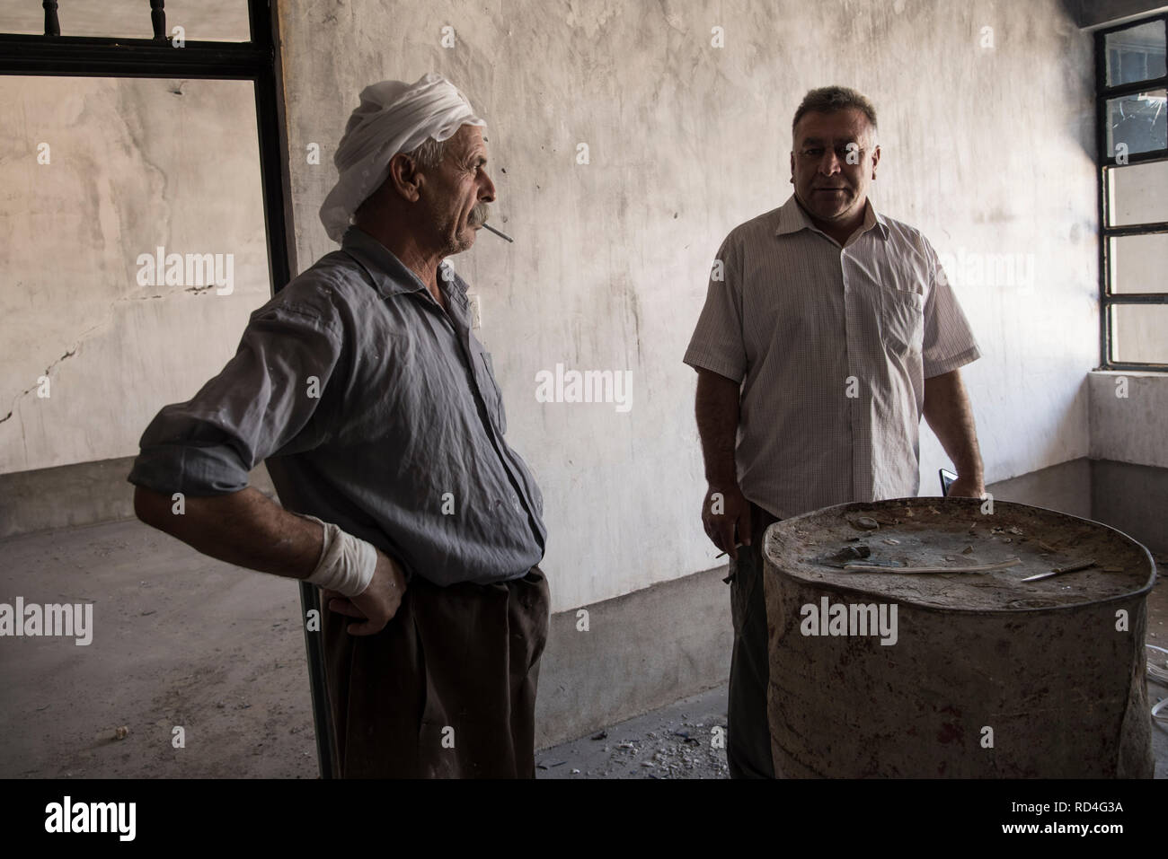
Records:
{"label": "bare-headed man in pale checked shirt standing behind the barrel", "polygon": [[[773,777],[760,538],[773,522],[916,496],[922,414],[980,497],[958,368],[980,357],[932,245],[876,212],[876,111],[812,90],[792,124],[794,195],[723,242],[684,361],[697,371],[705,533],[730,556],[731,777]],[[781,774],[780,774],[781,775]]]}

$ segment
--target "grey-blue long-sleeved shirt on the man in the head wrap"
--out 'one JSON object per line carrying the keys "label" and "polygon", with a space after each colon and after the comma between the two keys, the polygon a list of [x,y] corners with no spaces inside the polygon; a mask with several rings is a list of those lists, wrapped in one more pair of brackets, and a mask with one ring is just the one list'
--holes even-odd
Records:
{"label": "grey-blue long-sleeved shirt on the man in the head wrap", "polygon": [[408,575],[446,586],[527,573],[543,558],[543,498],[503,440],[466,282],[439,274],[449,314],[350,228],[251,314],[215,378],[158,413],[130,482],[221,495],[266,460],[287,509],[373,543]]}

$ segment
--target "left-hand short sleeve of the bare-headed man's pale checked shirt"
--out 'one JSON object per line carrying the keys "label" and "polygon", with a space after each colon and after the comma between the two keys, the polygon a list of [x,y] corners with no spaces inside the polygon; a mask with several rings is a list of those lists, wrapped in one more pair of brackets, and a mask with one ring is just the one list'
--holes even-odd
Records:
{"label": "left-hand short sleeve of the bare-headed man's pale checked shirt", "polygon": [[683,358],[695,370],[712,370],[735,382],[742,382],[746,375],[739,250],[732,242],[732,235],[718,249],[710,272],[705,306]]}

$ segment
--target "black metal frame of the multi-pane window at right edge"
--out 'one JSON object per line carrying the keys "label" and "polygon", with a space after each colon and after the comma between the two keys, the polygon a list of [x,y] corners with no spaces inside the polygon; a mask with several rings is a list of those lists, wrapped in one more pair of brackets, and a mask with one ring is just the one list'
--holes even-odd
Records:
{"label": "black metal frame of the multi-pane window at right edge", "polygon": [[1107,35],[1119,33],[1132,27],[1148,23],[1150,21],[1162,21],[1164,32],[1168,34],[1168,13],[1148,15],[1132,21],[1126,21],[1115,27],[1096,30],[1096,165],[1099,172],[1099,366],[1097,370],[1149,370],[1168,372],[1166,363],[1136,363],[1112,361],[1112,308],[1119,305],[1168,305],[1168,293],[1113,293],[1111,291],[1111,239],[1125,236],[1150,236],[1156,233],[1168,233],[1168,221],[1160,221],[1143,224],[1128,224],[1125,226],[1108,226],[1111,216],[1111,170],[1129,167],[1140,163],[1154,163],[1168,161],[1168,147],[1129,154],[1127,163],[1117,162],[1114,154],[1107,149],[1107,102],[1122,96],[1131,96],[1136,92],[1147,92],[1155,89],[1168,89],[1168,75],[1138,81],[1135,83],[1107,85]]}

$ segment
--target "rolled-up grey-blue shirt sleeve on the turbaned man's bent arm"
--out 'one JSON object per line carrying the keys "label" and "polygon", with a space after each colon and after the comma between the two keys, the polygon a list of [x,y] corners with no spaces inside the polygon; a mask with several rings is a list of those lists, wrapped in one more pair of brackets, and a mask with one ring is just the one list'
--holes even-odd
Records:
{"label": "rolled-up grey-blue shirt sleeve on the turbaned man's bent arm", "polygon": [[343,343],[331,309],[277,298],[252,313],[223,370],[146,427],[128,481],[164,494],[235,493],[293,439],[303,449],[319,444],[313,419]]}

